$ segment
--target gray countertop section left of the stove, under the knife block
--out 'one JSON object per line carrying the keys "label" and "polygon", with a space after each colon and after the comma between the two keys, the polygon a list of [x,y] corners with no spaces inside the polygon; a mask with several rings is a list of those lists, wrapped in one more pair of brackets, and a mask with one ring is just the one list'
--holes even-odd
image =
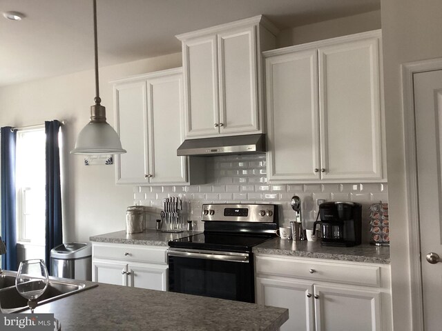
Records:
{"label": "gray countertop section left of the stove, under the knife block", "polygon": [[126,234],[126,230],[99,234],[89,237],[90,241],[98,243],[128,243],[131,245],[167,246],[169,241],[189,237],[198,231],[183,231],[180,233],[161,232],[161,230],[147,229],[144,232]]}

